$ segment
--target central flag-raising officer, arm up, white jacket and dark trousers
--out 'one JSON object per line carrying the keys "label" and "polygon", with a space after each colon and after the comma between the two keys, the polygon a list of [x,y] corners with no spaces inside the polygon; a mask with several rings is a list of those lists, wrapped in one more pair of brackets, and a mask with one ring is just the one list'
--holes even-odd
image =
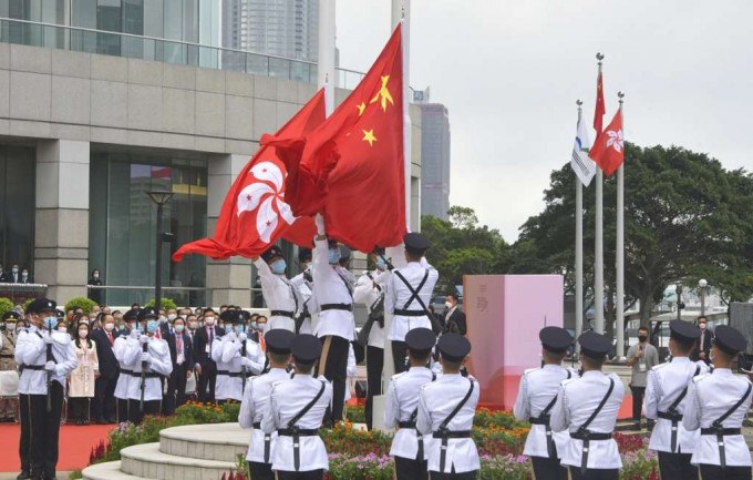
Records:
{"label": "central flag-raising officer, arm up, white jacket and dark trousers", "polygon": [[342,420],[345,404],[348,351],[355,339],[352,286],[340,267],[340,248],[329,241],[324,218],[317,214],[317,237],[313,249],[313,296],[319,309],[317,337],[322,341],[321,358],[316,375],[332,381],[332,412],[328,425]]}

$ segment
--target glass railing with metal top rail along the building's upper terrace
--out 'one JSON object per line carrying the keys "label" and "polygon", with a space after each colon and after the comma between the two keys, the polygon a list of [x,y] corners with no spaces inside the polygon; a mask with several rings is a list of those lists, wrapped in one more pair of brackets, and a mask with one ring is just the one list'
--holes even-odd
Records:
{"label": "glass railing with metal top rail along the building's upper terrace", "polygon": [[[153,60],[317,83],[317,63],[183,40],[0,17],[0,42]],[[352,90],[364,73],[336,69],[336,86]]]}

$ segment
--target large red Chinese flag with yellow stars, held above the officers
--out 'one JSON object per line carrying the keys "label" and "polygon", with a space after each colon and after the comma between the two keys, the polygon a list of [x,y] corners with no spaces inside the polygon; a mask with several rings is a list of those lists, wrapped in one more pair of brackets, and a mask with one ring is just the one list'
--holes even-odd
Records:
{"label": "large red Chinese flag with yellow stars, held above the officers", "polygon": [[327,234],[361,252],[405,234],[403,68],[399,27],[344,102],[306,136],[265,136],[285,146],[295,215],[324,215]]}

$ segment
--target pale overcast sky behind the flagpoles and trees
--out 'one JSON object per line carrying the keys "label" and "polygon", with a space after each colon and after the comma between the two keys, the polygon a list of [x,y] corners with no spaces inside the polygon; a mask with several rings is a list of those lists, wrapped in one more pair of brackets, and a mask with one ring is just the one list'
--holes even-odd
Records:
{"label": "pale overcast sky behind the flagpoles and trees", "polygon": [[[577,99],[591,123],[597,51],[606,54],[605,126],[622,90],[628,141],[753,170],[753,1],[411,4],[411,85],[431,85],[431,100],[450,110],[450,202],[473,207],[508,242],[541,211],[550,172],[569,162]],[[368,70],[389,38],[390,8],[338,0],[341,67]]]}

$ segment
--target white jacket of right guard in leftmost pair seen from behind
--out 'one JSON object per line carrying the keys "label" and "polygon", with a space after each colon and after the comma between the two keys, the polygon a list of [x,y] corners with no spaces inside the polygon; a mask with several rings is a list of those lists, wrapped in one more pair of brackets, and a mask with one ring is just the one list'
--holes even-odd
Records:
{"label": "white jacket of right guard in leftmost pair seen from behind", "polygon": [[[322,385],[324,385],[322,396],[296,423],[300,429],[319,429],[327,407],[332,401],[332,385],[323,377],[313,378],[310,375],[296,375],[289,380],[279,381],[272,386],[269,395],[269,408],[265,411],[261,420],[261,430],[265,433],[272,433],[278,429],[288,428],[288,422],[313,400]],[[329,470],[324,442],[318,435],[300,437],[299,471],[319,469]],[[296,471],[292,437],[279,436],[277,438],[272,470]]]}

